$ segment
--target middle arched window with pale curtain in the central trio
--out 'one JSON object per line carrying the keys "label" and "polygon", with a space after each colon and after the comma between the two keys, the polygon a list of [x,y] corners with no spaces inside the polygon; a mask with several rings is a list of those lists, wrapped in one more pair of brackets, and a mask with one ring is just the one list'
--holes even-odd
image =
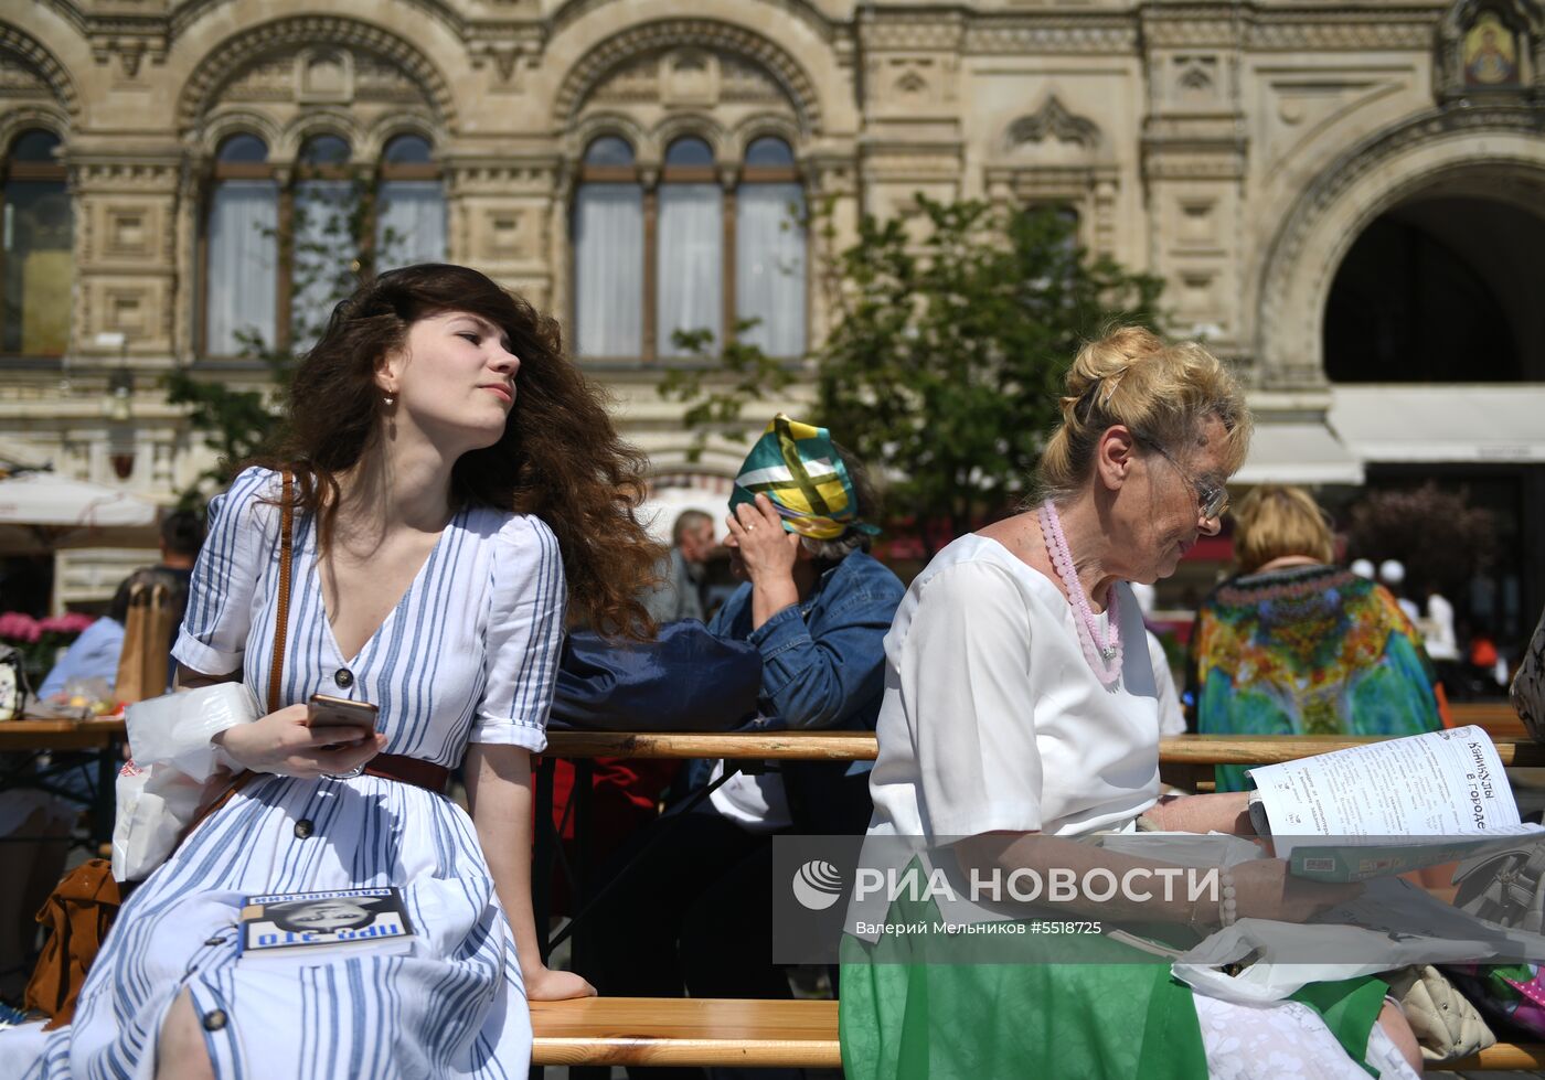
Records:
{"label": "middle arched window with pale curtain in the central trio", "polygon": [[697,138],[666,150],[660,178],[655,280],[660,283],[655,352],[686,355],[677,331],[709,331],[723,338],[725,193],[714,175],[714,151]]}

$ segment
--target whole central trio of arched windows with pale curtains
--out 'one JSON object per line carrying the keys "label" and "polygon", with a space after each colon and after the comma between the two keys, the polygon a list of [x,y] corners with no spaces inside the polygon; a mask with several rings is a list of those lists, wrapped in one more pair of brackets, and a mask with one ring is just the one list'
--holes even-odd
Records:
{"label": "whole central trio of arched windows with pale curtains", "polygon": [[677,331],[709,331],[717,349],[756,318],[746,340],[776,357],[803,354],[805,193],[793,148],[754,139],[728,190],[701,138],[671,142],[663,165],[646,188],[624,139],[586,147],[573,207],[576,352],[678,357]]}

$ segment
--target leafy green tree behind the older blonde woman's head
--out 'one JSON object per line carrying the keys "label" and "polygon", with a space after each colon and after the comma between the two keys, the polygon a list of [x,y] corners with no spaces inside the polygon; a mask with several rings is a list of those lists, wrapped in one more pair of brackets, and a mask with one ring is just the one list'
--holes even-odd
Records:
{"label": "leafy green tree behind the older blonde woman's head", "polygon": [[[833,252],[830,205],[814,226]],[[958,536],[1023,494],[1078,346],[1112,323],[1156,326],[1163,287],[1091,258],[1057,207],[924,195],[905,215],[865,216],[819,273],[833,326],[810,358],[814,419],[893,477],[890,508],[915,515],[929,555],[929,524]],[[691,403],[697,448],[709,431],[734,437],[745,406],[796,374],[739,341],[715,369],[706,331],[677,343],[698,363],[672,369],[661,392]]]}

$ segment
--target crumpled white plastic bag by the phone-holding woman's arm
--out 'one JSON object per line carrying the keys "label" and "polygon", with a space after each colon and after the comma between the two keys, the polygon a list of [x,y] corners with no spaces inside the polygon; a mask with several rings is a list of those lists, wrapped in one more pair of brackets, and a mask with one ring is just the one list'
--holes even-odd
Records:
{"label": "crumpled white plastic bag by the phone-holding woman's arm", "polygon": [[128,706],[134,759],[119,771],[114,786],[113,878],[141,881],[171,854],[199,807],[229,782],[210,739],[256,718],[258,700],[241,683]]}

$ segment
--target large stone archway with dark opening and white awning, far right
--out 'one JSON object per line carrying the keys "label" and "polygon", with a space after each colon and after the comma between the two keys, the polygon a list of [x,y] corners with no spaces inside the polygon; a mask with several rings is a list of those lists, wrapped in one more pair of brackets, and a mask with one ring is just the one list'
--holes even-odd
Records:
{"label": "large stone archway with dark opening and white awning, far right", "polygon": [[[1545,604],[1545,139],[1533,110],[1440,108],[1349,147],[1299,195],[1258,278],[1256,374],[1329,400],[1364,484],[1435,484],[1492,511],[1489,562],[1440,587],[1516,657]],[[1432,522],[1409,533],[1431,536]],[[1418,552],[1378,552],[1380,556]],[[1431,562],[1431,561],[1429,561]],[[1462,643],[1463,646],[1463,643]]]}

